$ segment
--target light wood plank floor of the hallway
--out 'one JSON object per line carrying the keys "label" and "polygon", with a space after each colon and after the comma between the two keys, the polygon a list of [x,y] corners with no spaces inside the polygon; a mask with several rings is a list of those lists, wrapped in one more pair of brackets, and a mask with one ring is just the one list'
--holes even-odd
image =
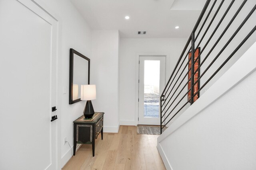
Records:
{"label": "light wood plank floor of the hallway", "polygon": [[120,126],[118,133],[104,133],[92,145],[82,145],[63,170],[165,170],[156,148],[159,135],[139,135],[136,126]]}

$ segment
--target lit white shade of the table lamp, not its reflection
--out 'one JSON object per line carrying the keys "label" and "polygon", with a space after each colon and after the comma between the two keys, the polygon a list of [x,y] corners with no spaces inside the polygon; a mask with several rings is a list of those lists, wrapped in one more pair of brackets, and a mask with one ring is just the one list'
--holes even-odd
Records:
{"label": "lit white shade of the table lamp, not its reflection", "polygon": [[96,99],[96,85],[88,84],[81,85],[81,100],[94,100]]}

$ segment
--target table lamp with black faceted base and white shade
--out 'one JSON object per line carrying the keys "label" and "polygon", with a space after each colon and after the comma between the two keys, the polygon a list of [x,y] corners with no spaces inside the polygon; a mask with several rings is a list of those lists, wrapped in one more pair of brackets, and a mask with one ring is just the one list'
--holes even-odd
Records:
{"label": "table lamp with black faceted base and white shade", "polygon": [[94,115],[91,101],[94,99],[96,99],[95,84],[81,85],[81,100],[86,100],[86,105],[84,107],[84,117],[86,119],[90,119]]}

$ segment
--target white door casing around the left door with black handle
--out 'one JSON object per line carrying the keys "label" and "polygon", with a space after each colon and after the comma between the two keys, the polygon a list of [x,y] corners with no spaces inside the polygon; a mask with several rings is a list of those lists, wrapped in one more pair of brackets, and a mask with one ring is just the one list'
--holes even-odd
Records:
{"label": "white door casing around the left door with black handle", "polygon": [[[54,10],[52,10],[49,6],[47,6],[42,0],[17,0],[21,4],[26,4],[31,1],[32,3],[36,4],[39,8],[41,8],[46,14],[48,14],[50,17],[52,17],[56,21],[56,34],[57,34],[57,41],[56,41],[56,107],[58,107],[58,121],[56,121],[56,169],[61,169],[61,89],[62,86],[60,84],[61,82],[61,30],[62,30],[62,19],[60,16],[58,16]],[[49,119],[50,121],[50,119]],[[59,146],[59,147],[58,147]]]}

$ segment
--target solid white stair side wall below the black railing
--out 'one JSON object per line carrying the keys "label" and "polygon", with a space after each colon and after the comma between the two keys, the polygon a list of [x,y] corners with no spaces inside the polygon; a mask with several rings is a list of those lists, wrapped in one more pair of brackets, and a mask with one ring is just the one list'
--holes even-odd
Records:
{"label": "solid white stair side wall below the black railing", "polygon": [[166,169],[256,169],[256,43],[160,137]]}

